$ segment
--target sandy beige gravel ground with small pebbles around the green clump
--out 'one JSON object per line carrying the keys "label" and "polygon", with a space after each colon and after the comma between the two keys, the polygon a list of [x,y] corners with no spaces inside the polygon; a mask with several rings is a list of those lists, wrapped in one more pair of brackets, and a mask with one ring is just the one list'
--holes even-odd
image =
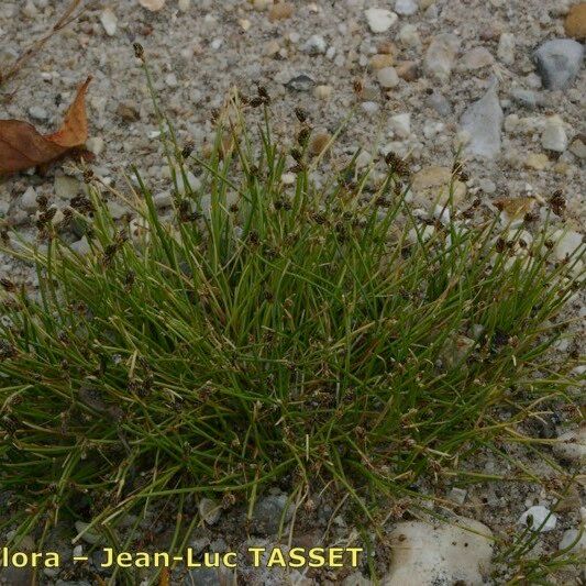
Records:
{"label": "sandy beige gravel ground with small pebbles around the green clump", "polygon": [[[332,134],[354,109],[332,165],[356,148],[364,150],[362,164],[389,151],[409,156],[417,201],[427,187],[445,180],[462,147],[468,177],[461,186],[460,206],[479,200],[486,214],[501,210],[508,219],[530,213],[533,221],[527,222],[528,237],[551,212],[554,228],[568,231],[564,244],[556,247],[563,259],[568,247],[581,243],[586,215],[586,8],[573,8],[576,3],[318,0],[273,5],[270,0],[167,0],[162,10],[151,11],[133,0],[95,2],[95,9],[49,41],[1,88],[0,118],[29,120],[52,131],[76,86],[91,74],[88,148],[96,154],[96,174],[106,181],[122,183],[121,175],[136,165],[162,195],[161,201],[166,201],[168,168],[154,141],[157,123],[132,49],[132,44],[140,42],[181,143],[194,142],[199,148],[213,139],[212,112],[232,86],[247,95],[256,91],[255,84],[266,87],[277,131],[285,136],[292,133],[296,107],[308,111],[316,133],[323,135]],[[44,34],[67,4],[65,0],[3,0],[2,69]],[[69,164],[58,164],[42,177],[32,172],[9,177],[0,184],[0,213],[25,237],[34,239],[36,197],[47,196],[60,209],[80,189],[79,178]],[[424,203],[422,208],[427,213]],[[114,202],[112,210],[124,213]],[[0,274],[35,285],[34,275],[4,256],[0,257]],[[584,308],[574,305],[570,314],[583,317]],[[574,341],[557,349],[562,358],[584,340],[579,331],[575,334]],[[565,430],[561,423],[566,414],[556,417],[543,423],[549,425],[549,435],[542,436],[555,438]],[[554,468],[529,452],[516,456],[548,479],[545,486],[555,487]],[[568,460],[579,465],[584,457],[565,456],[560,460],[564,465]],[[466,464],[488,474],[501,473],[500,465],[488,454]],[[484,522],[505,538],[519,531],[518,519],[529,507],[551,507],[555,491],[522,483],[455,493],[450,486],[427,489],[456,500],[453,508],[460,515]],[[328,512],[322,513],[305,523],[307,539],[327,527]],[[584,486],[577,483],[557,512],[556,527],[543,533],[533,554],[556,551],[564,532],[578,529],[584,516]],[[234,513],[208,527],[204,546],[211,542],[213,551],[226,544],[242,545],[235,538],[242,534],[239,522]],[[329,532],[330,543],[351,533],[342,516]],[[583,541],[583,551],[585,546]],[[382,565],[384,559],[380,553]],[[500,570],[506,575],[507,568]],[[338,584],[344,577],[299,574],[297,583]],[[46,576],[46,584],[58,579]],[[178,584],[184,579],[176,577]],[[219,584],[213,576],[194,579],[195,584]],[[443,579],[438,584],[451,584],[445,576]],[[579,577],[577,573],[563,574],[557,579],[578,584]],[[278,584],[285,578],[253,573],[246,581]],[[357,575],[344,582],[368,583]]]}

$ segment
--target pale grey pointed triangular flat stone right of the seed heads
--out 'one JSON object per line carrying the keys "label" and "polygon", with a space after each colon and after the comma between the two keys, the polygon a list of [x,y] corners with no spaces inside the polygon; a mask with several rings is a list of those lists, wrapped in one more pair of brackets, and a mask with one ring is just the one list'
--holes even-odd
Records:
{"label": "pale grey pointed triangular flat stone right of the seed heads", "polygon": [[500,152],[502,118],[497,86],[493,84],[488,91],[462,114],[462,130],[469,135],[465,152],[482,158],[495,158]]}

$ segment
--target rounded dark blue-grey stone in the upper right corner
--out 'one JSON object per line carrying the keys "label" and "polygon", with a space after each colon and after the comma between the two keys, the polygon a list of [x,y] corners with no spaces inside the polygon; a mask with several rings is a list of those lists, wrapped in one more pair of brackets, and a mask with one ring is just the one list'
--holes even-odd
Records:
{"label": "rounded dark blue-grey stone in the upper right corner", "polygon": [[572,38],[553,38],[533,54],[539,75],[548,89],[564,89],[578,75],[584,46]]}

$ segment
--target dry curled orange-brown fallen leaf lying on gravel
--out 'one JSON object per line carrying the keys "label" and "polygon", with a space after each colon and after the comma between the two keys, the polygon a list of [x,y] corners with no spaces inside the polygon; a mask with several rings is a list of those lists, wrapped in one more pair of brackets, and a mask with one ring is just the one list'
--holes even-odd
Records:
{"label": "dry curled orange-brown fallen leaf lying on gravel", "polygon": [[41,134],[21,120],[0,120],[0,175],[46,165],[88,140],[86,92],[90,81],[91,76],[79,86],[62,128],[53,134]]}

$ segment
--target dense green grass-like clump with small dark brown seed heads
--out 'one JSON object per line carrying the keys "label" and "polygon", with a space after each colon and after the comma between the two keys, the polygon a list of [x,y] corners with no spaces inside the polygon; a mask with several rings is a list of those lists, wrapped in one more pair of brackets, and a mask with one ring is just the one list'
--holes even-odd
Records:
{"label": "dense green grass-like clump with small dark brown seed heads", "polygon": [[110,534],[117,512],[194,494],[252,508],[284,482],[369,515],[568,385],[545,355],[577,258],[554,266],[545,235],[502,245],[496,221],[456,213],[432,233],[392,157],[380,180],[351,163],[318,187],[306,123],[285,146],[226,112],[207,156],[167,133],[172,221],[137,177],[139,220],[114,222],[88,174],[68,219],[91,252],[51,223],[45,250],[13,251],[40,283],[4,284],[0,488],[21,533],[89,510]]}

